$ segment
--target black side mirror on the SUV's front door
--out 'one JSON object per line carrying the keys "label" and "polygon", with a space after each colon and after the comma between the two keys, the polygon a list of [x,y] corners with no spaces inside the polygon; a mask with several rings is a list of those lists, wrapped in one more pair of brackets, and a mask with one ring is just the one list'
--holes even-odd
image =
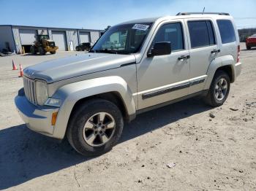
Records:
{"label": "black side mirror on the SUV's front door", "polygon": [[148,50],[148,57],[155,55],[170,55],[171,46],[170,42],[156,42],[150,50]]}

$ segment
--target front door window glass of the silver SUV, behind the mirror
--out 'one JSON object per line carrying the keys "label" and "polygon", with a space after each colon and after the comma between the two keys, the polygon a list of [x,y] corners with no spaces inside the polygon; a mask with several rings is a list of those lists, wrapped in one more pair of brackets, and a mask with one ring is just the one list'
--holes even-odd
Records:
{"label": "front door window glass of the silver SUV, behind the mirror", "polygon": [[181,23],[168,23],[159,28],[153,43],[156,42],[170,42],[172,51],[184,50]]}

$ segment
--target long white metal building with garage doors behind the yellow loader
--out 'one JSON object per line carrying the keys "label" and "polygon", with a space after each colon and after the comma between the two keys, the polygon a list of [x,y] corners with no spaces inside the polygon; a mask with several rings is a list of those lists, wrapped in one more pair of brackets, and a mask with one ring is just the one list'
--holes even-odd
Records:
{"label": "long white metal building with garage doors behind the yellow loader", "polygon": [[7,49],[19,53],[24,48],[25,52],[29,52],[37,34],[48,34],[59,51],[71,50],[72,47],[75,50],[82,42],[94,44],[102,33],[102,30],[93,29],[0,25],[0,51]]}

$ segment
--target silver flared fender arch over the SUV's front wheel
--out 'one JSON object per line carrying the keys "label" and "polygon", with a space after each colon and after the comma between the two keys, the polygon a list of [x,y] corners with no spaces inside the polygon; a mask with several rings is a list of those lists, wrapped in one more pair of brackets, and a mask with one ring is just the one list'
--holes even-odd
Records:
{"label": "silver flared fender arch over the SUV's front wheel", "polygon": [[69,117],[74,109],[92,98],[113,102],[121,109],[125,120],[134,119],[136,114],[132,91],[121,77],[100,77],[64,85],[56,91],[53,98],[60,98],[62,101],[53,130],[54,136],[59,139],[64,138]]}

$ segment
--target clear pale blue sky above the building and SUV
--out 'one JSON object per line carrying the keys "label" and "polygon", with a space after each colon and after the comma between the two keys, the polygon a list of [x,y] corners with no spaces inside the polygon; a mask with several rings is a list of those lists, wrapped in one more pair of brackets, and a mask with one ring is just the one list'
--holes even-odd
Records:
{"label": "clear pale blue sky above the building and SUV", "polygon": [[238,28],[256,27],[256,0],[0,0],[0,25],[104,29],[178,12],[228,12]]}

